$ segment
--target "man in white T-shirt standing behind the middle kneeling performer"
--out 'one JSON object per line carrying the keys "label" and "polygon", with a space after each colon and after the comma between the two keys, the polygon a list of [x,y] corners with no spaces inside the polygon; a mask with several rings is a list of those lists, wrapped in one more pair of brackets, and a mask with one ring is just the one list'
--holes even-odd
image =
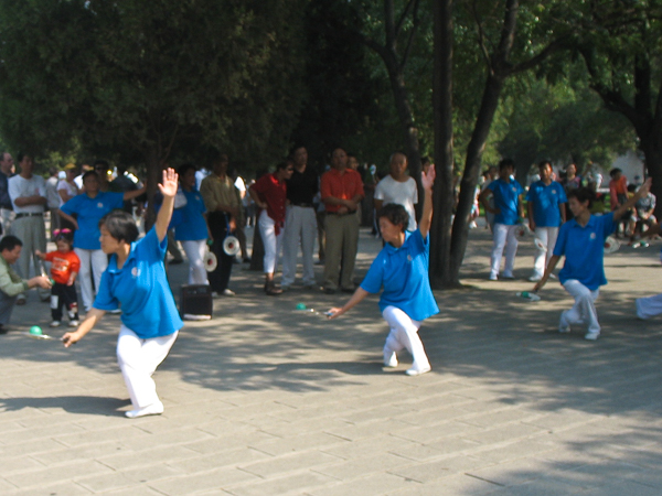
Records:
{"label": "man in white T-shirt standing behind the middle kneeling performer", "polygon": [[407,174],[407,155],[395,152],[391,155],[391,171],[375,187],[375,211],[383,205],[395,203],[402,205],[409,214],[407,230],[416,230],[416,213],[414,205],[418,203],[416,181]]}

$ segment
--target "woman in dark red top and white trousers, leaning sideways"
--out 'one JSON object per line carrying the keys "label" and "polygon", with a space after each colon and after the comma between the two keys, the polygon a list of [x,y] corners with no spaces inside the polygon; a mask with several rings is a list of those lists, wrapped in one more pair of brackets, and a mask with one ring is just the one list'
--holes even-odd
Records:
{"label": "woman in dark red top and white trousers, leaning sideways", "polygon": [[276,296],[282,292],[274,283],[274,272],[278,262],[280,240],[285,228],[285,205],[287,202],[286,180],[290,179],[293,165],[289,162],[279,163],[276,172],[263,175],[248,192],[255,204],[261,208],[259,214],[259,234],[265,245],[265,292]]}

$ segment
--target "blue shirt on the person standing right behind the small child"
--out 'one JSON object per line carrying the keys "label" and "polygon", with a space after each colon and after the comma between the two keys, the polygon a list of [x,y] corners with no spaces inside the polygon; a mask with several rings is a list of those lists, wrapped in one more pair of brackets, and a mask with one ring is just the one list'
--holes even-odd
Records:
{"label": "blue shirt on the person standing right behind the small child", "polygon": [[78,229],[74,233],[74,248],[100,250],[99,220],[116,208],[124,207],[124,193],[98,192],[94,198],[86,193],[74,196],[60,208],[68,215],[76,214]]}

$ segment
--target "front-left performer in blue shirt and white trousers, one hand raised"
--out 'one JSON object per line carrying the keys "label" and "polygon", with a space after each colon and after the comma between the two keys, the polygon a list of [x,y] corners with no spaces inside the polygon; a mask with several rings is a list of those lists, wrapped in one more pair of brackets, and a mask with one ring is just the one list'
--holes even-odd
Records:
{"label": "front-left performer in blue shirt and white trousers, one hand raised", "polygon": [[94,308],[75,332],[62,337],[64,346],[70,347],[121,303],[117,362],[131,398],[132,409],[125,413],[130,419],[163,412],[151,376],[184,325],[163,266],[177,185],[174,170],[163,171],[163,182],[159,184],[163,204],[157,223],[138,241],[136,222],[126,212],[111,212],[99,222],[102,249],[111,255],[110,262]]}

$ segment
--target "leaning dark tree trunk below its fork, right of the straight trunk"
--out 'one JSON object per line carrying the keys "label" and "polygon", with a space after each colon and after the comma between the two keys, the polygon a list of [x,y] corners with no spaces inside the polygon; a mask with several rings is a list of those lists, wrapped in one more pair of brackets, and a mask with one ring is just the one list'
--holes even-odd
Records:
{"label": "leaning dark tree trunk below its fork, right of the straight trunk", "polygon": [[494,114],[499,107],[499,97],[503,88],[502,76],[489,75],[483,91],[480,110],[476,119],[476,127],[471,134],[471,141],[467,148],[467,162],[465,164],[465,174],[460,185],[460,196],[456,209],[456,217],[452,224],[452,238],[450,246],[450,276],[448,278],[451,284],[459,284],[460,266],[465,258],[467,249],[467,237],[469,234],[469,217],[476,195],[476,185],[482,162],[482,155],[485,150],[485,143],[492,127]]}

